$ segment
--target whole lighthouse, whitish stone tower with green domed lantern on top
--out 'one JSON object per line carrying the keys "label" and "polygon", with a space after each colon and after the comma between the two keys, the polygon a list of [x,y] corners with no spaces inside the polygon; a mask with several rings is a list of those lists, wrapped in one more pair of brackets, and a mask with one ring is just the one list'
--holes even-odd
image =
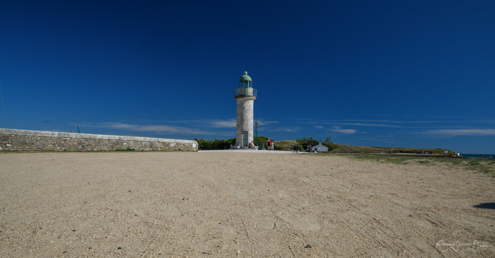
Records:
{"label": "whole lighthouse, whitish stone tower with green domed lantern on top", "polygon": [[232,149],[246,149],[252,141],[252,117],[257,92],[252,88],[251,77],[244,72],[239,79],[239,87],[234,90],[237,100],[237,125],[235,127],[235,146]]}

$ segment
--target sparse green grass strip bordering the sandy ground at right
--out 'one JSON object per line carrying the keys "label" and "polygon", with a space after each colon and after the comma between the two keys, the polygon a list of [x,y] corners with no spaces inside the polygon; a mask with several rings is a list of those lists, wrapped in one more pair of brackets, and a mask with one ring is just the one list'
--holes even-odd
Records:
{"label": "sparse green grass strip bordering the sandy ground at right", "polygon": [[390,155],[342,155],[354,160],[367,160],[380,163],[392,163],[407,165],[411,163],[425,166],[449,166],[451,168],[466,169],[481,172],[495,177],[495,161],[485,159],[457,159],[457,158],[434,158],[434,157],[408,157]]}

